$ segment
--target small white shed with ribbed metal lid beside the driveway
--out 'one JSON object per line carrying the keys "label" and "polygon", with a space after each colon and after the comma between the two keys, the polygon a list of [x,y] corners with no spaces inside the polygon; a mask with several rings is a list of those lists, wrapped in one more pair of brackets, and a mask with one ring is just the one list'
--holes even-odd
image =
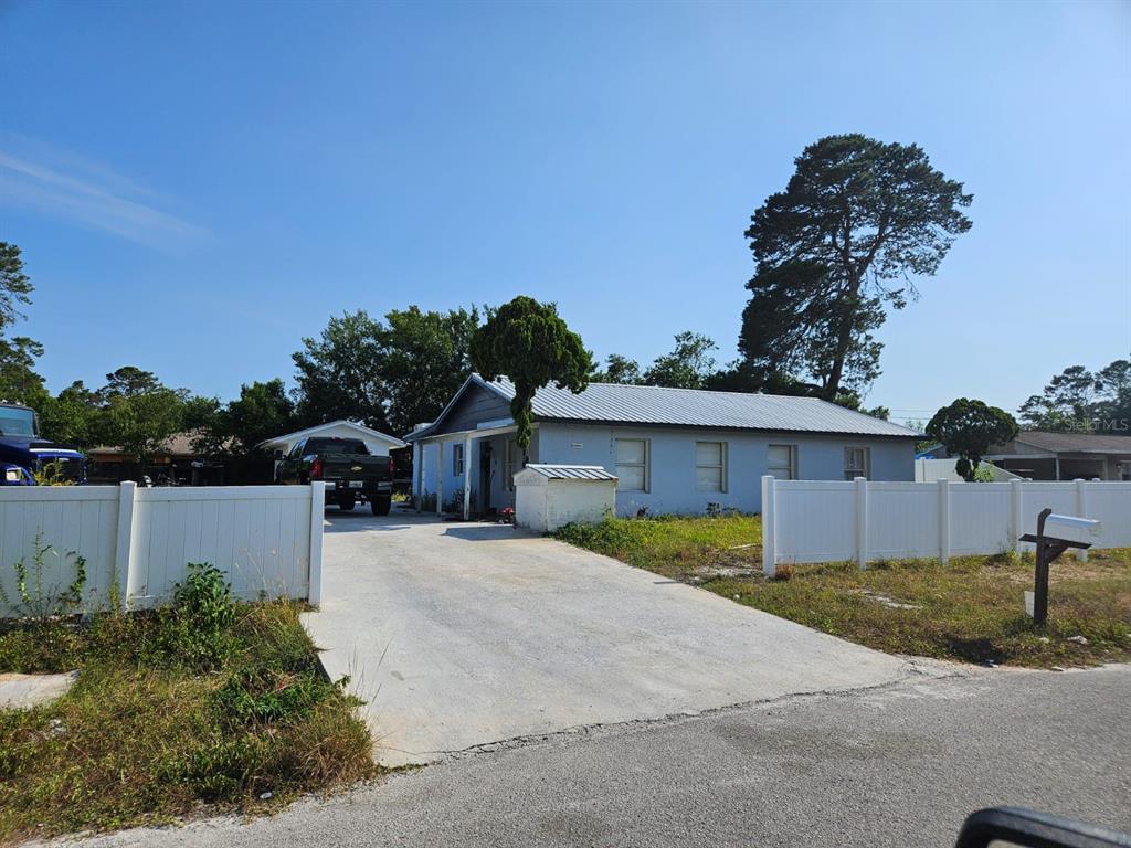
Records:
{"label": "small white shed with ribbed metal lid beside the driveway", "polygon": [[596,523],[616,509],[616,475],[599,465],[530,464],[515,474],[515,523],[550,533]]}

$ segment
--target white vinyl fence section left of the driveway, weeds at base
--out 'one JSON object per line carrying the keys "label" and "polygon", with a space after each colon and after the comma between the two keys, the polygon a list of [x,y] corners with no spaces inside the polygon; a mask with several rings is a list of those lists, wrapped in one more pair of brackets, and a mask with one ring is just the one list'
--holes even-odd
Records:
{"label": "white vinyl fence section left of the driveway, weeds at base", "polygon": [[[0,587],[18,603],[15,563],[33,577],[36,539],[50,545],[44,592],[86,560],[85,609],[105,608],[116,586],[129,608],[167,602],[190,562],[225,573],[241,598],[319,603],[325,483],[310,486],[0,486]],[[0,607],[2,607],[0,596]]]}

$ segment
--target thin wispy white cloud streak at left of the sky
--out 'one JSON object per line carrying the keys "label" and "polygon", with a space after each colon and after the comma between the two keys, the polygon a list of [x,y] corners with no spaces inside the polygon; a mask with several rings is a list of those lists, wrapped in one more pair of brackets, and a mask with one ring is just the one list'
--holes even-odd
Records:
{"label": "thin wispy white cloud streak at left of the sky", "polygon": [[0,136],[0,205],[35,209],[154,248],[208,237],[206,228],[158,208],[162,198],[102,165]]}

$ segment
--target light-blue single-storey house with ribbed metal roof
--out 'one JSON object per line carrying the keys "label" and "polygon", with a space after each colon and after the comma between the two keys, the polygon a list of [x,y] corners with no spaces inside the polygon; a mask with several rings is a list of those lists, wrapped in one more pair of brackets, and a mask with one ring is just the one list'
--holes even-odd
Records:
{"label": "light-blue single-storey house with ribbed metal roof", "polygon": [[[515,503],[523,467],[510,416],[513,386],[472,375],[413,444],[417,503],[491,512]],[[907,427],[815,398],[590,383],[534,397],[528,460],[601,466],[618,477],[616,511],[761,509],[761,476],[912,481]],[[466,488],[465,488],[466,487]],[[465,495],[466,492],[466,495]]]}

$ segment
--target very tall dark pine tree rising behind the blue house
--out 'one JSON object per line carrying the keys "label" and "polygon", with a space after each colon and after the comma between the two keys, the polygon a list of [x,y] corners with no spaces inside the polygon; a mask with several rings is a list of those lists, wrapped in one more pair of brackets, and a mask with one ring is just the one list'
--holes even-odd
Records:
{"label": "very tall dark pine tree rising behind the blue house", "polygon": [[884,306],[917,296],[912,276],[933,275],[970,228],[973,196],[918,146],[858,133],[822,138],[795,165],[746,230],[757,269],[740,351],[756,383],[792,378],[834,400],[879,374]]}

